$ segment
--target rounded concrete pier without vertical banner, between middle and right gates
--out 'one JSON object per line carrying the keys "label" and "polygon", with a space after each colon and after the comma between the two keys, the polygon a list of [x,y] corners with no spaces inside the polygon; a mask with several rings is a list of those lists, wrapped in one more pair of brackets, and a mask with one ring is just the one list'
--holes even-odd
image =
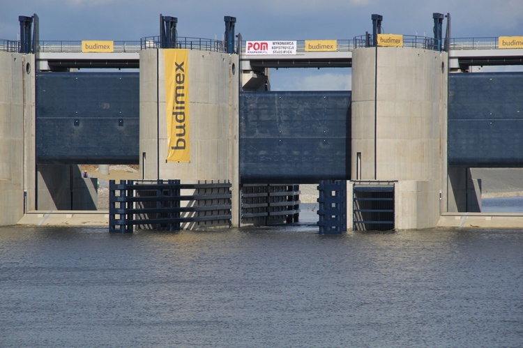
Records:
{"label": "rounded concrete pier without vertical banner, between middle and right gates", "polygon": [[351,179],[397,181],[396,229],[435,227],[446,202],[446,62],[407,47],[353,52]]}

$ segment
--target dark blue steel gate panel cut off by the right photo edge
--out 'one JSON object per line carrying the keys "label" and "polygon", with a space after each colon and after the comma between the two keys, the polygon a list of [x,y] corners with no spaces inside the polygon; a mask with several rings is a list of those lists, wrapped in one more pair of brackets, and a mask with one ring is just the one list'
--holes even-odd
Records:
{"label": "dark blue steel gate panel cut off by the right photo edge", "polygon": [[523,167],[523,73],[449,75],[448,165]]}

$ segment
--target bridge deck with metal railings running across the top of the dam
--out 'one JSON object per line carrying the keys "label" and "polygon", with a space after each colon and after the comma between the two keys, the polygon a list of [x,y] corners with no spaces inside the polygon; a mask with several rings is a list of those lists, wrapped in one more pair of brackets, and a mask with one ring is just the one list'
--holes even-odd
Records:
{"label": "bridge deck with metal railings running across the top of the dam", "polygon": [[[434,39],[406,36],[404,47],[434,49]],[[191,50],[222,50],[222,43],[215,40],[179,38],[181,48]],[[361,40],[336,40],[335,52],[305,52],[305,40],[296,40],[296,54],[245,54],[245,41],[241,48],[241,68],[347,68],[352,66],[352,51],[365,47]],[[469,66],[523,65],[523,49],[500,49],[499,38],[451,38],[448,43],[451,70],[467,71]],[[37,61],[40,70],[53,68],[138,68],[139,51],[156,49],[156,39],[114,41],[114,52],[82,53],[81,41],[40,41]],[[0,50],[15,52],[20,43],[0,40]],[[238,45],[236,45],[238,47]]]}

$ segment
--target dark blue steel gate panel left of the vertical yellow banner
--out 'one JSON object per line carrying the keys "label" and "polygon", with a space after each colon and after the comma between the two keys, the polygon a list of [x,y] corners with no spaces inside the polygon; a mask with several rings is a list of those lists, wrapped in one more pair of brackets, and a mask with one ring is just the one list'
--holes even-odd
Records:
{"label": "dark blue steel gate panel left of the vertical yellow banner", "polygon": [[38,164],[139,162],[139,73],[37,73]]}

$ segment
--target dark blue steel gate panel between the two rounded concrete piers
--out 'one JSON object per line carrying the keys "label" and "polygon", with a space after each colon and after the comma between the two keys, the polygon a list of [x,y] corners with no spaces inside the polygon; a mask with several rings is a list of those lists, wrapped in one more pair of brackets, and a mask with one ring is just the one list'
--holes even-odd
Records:
{"label": "dark blue steel gate panel between the two rounded concrete piers", "polygon": [[349,179],[350,114],[350,91],[241,92],[241,182]]}

